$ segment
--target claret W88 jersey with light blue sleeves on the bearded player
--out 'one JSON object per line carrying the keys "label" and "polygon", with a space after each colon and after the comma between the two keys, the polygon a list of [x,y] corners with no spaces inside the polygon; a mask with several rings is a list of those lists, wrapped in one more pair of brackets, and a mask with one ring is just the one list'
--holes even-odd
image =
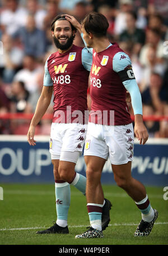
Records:
{"label": "claret W88 jersey with light blue sleeves on the bearded player", "polygon": [[[76,45],[66,53],[53,53],[46,60],[44,86],[53,86],[54,123],[71,123],[75,120],[86,123],[91,64],[92,54]],[[82,114],[80,117],[78,111]]]}

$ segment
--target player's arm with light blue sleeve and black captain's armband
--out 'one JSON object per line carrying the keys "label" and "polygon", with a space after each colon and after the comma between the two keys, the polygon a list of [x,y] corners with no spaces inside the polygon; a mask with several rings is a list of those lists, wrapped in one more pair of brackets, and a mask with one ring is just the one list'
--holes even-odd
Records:
{"label": "player's arm with light blue sleeve and black captain's armband", "polygon": [[146,143],[148,132],[143,124],[142,99],[132,70],[130,58],[127,54],[116,53],[113,58],[113,69],[118,73],[125,89],[129,92],[134,111],[134,133],[140,144]]}

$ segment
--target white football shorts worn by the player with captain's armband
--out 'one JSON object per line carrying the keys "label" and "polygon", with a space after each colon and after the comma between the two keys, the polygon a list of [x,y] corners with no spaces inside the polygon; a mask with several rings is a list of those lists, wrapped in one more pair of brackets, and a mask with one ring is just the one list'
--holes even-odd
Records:
{"label": "white football shorts worn by the player with captain's armband", "polygon": [[134,130],[127,125],[88,123],[84,156],[99,156],[111,164],[122,165],[133,160]]}

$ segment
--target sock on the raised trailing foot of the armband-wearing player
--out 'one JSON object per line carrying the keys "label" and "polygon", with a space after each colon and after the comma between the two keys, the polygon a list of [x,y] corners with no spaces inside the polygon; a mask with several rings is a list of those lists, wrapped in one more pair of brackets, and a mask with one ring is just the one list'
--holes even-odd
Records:
{"label": "sock on the raised trailing foot of the armband-wearing player", "polygon": [[135,202],[139,210],[142,212],[142,220],[151,222],[153,218],[155,217],[155,212],[153,211],[153,208],[151,207],[150,201],[148,199],[148,196],[140,201]]}

